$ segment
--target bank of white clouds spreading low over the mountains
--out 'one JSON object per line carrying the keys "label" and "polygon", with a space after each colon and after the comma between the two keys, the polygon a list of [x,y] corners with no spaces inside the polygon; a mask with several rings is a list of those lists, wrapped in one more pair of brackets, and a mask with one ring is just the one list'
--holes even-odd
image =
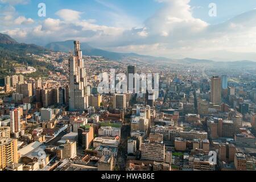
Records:
{"label": "bank of white clouds spreading low over the mountains", "polygon": [[[116,6],[97,1],[112,9],[113,14],[120,15]],[[63,9],[56,12],[59,16],[57,19],[47,18],[35,26],[23,29],[6,28],[4,32],[20,41],[40,45],[77,39],[111,51],[172,58],[219,57],[236,60],[242,56],[246,59],[246,53],[250,55],[250,59],[255,55],[251,52],[255,52],[256,47],[256,10],[238,15],[224,23],[210,25],[193,17],[193,7],[189,6],[189,0],[156,1],[163,3],[162,8],[145,20],[140,27],[123,26],[122,23],[113,26],[100,25],[96,20],[81,18],[80,11]],[[118,22],[117,16],[113,15],[112,18],[115,17],[113,19]],[[15,19],[15,13],[5,14],[4,17],[9,22],[14,20],[16,24],[32,22],[32,19],[22,16]]]}

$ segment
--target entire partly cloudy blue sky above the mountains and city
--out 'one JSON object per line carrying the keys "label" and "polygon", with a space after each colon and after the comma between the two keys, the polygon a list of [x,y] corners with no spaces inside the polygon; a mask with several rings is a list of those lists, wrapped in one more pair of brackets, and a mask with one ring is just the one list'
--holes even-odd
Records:
{"label": "entire partly cloudy blue sky above the mountains and city", "polygon": [[[46,17],[38,16],[41,2]],[[0,0],[0,32],[42,46],[79,39],[109,51],[256,60],[255,7],[255,0]]]}

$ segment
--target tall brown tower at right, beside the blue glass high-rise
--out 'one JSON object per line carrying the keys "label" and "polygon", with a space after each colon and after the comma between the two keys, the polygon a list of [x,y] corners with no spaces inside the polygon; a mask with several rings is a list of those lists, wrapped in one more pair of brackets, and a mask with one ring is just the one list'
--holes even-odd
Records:
{"label": "tall brown tower at right, beside the blue glass high-rise", "polygon": [[213,76],[210,81],[210,101],[212,104],[221,104],[221,78]]}

